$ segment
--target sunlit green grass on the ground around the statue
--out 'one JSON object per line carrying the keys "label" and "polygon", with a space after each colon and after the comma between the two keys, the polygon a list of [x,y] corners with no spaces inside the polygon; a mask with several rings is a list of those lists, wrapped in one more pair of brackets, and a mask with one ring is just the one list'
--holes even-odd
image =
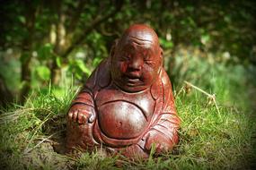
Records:
{"label": "sunlit green grass on the ground around the statue", "polygon": [[[1,169],[252,169],[256,160],[256,118],[250,105],[253,98],[246,92],[252,88],[244,76],[246,69],[239,65],[209,64],[207,60],[191,62],[184,71],[190,77],[180,79],[216,94],[219,114],[207,95],[181,81],[174,87],[182,121],[180,142],[172,153],[161,157],[152,153],[141,162],[104,157],[100,150],[78,150],[77,157],[64,155],[66,110],[77,87],[49,86],[32,93],[25,106],[13,105],[2,110]],[[200,78],[193,77],[199,75]]]}

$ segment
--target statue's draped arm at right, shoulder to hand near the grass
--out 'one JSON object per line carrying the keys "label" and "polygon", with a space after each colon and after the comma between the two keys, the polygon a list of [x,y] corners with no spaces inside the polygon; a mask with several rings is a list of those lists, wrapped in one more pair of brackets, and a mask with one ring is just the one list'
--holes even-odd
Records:
{"label": "statue's draped arm at right, shoulder to hand near the grass", "polygon": [[174,98],[172,95],[172,85],[167,73],[161,72],[163,82],[163,106],[154,125],[146,133],[145,149],[150,150],[155,144],[156,152],[168,151],[178,143],[178,129],[180,118],[176,113]]}

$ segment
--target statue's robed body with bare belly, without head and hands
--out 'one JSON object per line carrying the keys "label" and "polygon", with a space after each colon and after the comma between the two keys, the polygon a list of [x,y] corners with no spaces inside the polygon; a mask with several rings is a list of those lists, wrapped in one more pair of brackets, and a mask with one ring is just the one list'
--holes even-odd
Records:
{"label": "statue's robed body with bare belly, without head and hands", "polygon": [[78,124],[67,120],[69,150],[102,146],[128,157],[148,157],[148,137],[156,137],[167,150],[178,142],[180,119],[163,67],[150,88],[131,93],[111,80],[110,59],[106,59],[86,81],[72,106],[86,106],[84,111],[93,115],[93,121]]}

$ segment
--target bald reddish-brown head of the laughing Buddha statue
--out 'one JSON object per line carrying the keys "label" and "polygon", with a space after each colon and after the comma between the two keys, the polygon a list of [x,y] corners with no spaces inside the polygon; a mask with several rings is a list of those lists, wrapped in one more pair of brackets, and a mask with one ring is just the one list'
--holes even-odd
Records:
{"label": "bald reddish-brown head of the laughing Buddha statue", "polygon": [[149,88],[163,64],[163,50],[150,27],[132,25],[110,52],[110,72],[114,83],[128,92]]}

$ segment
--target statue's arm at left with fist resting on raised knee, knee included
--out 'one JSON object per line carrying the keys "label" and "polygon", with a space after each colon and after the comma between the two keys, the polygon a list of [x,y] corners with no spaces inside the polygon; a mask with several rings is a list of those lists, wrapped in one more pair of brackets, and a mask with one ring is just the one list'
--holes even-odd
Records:
{"label": "statue's arm at left with fist resting on raised knee, knee included", "polygon": [[90,83],[96,77],[96,72],[86,81],[84,88],[78,93],[67,113],[66,119],[66,151],[71,152],[75,147],[87,148],[93,146],[93,122],[95,109],[93,92]]}

